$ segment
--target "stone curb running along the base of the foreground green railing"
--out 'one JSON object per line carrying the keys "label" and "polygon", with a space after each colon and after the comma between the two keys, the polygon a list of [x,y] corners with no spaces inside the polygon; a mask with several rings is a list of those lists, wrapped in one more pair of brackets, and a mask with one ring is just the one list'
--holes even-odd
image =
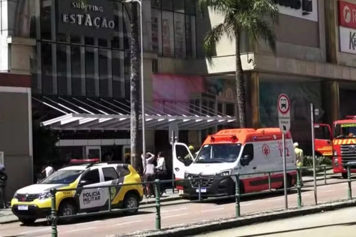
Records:
{"label": "stone curb running along the base of the foreground green railing", "polygon": [[303,208],[290,208],[288,210],[278,209],[266,212],[260,212],[243,216],[243,217],[226,217],[213,219],[197,223],[189,223],[183,225],[175,225],[162,228],[161,230],[137,231],[131,234],[114,235],[112,237],[149,237],[149,236],[165,236],[165,237],[182,237],[199,235],[206,232],[214,232],[226,230],[239,226],[251,225],[253,223],[262,223],[289,217],[298,217],[303,215],[315,214],[323,211],[332,211],[341,208],[356,206],[356,200],[341,200],[337,202],[327,202],[318,206],[305,206]]}

